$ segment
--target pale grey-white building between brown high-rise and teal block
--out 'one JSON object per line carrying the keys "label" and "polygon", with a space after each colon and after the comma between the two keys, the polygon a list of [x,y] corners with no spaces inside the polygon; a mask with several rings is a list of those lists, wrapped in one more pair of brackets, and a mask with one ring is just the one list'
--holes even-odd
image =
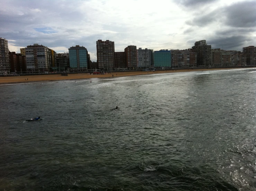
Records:
{"label": "pale grey-white building between brown high-rise and teal block", "polygon": [[151,66],[151,51],[150,49],[141,49],[138,50],[138,67],[149,68]]}

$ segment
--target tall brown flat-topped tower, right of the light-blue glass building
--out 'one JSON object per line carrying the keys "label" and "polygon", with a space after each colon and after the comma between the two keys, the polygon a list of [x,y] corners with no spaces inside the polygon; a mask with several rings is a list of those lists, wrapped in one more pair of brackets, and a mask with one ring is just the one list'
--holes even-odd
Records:
{"label": "tall brown flat-topped tower, right of the light-blue glass building", "polygon": [[103,70],[111,70],[115,67],[115,43],[106,40],[97,40],[98,66]]}

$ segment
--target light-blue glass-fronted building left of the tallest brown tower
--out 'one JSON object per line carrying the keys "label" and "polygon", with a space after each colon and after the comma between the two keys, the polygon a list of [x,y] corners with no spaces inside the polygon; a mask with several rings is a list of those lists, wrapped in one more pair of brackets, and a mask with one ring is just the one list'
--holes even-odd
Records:
{"label": "light-blue glass-fronted building left of the tallest brown tower", "polygon": [[85,47],[75,45],[68,49],[69,64],[72,71],[86,71],[88,66],[88,51]]}

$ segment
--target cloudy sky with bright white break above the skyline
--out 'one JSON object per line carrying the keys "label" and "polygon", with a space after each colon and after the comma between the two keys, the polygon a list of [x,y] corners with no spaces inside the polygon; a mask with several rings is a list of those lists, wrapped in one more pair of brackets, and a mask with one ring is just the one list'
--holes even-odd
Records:
{"label": "cloudy sky with bright white break above the skyline", "polygon": [[42,44],[57,53],[80,45],[96,61],[96,41],[115,51],[256,46],[256,0],[0,0],[0,37],[10,51]]}

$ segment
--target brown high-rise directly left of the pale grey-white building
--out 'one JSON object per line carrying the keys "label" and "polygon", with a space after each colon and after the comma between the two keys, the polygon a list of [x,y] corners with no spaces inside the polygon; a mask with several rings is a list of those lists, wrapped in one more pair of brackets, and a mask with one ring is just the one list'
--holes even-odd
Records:
{"label": "brown high-rise directly left of the pale grey-white building", "polygon": [[137,48],[136,46],[128,46],[125,48],[126,67],[129,69],[138,68],[137,65]]}

